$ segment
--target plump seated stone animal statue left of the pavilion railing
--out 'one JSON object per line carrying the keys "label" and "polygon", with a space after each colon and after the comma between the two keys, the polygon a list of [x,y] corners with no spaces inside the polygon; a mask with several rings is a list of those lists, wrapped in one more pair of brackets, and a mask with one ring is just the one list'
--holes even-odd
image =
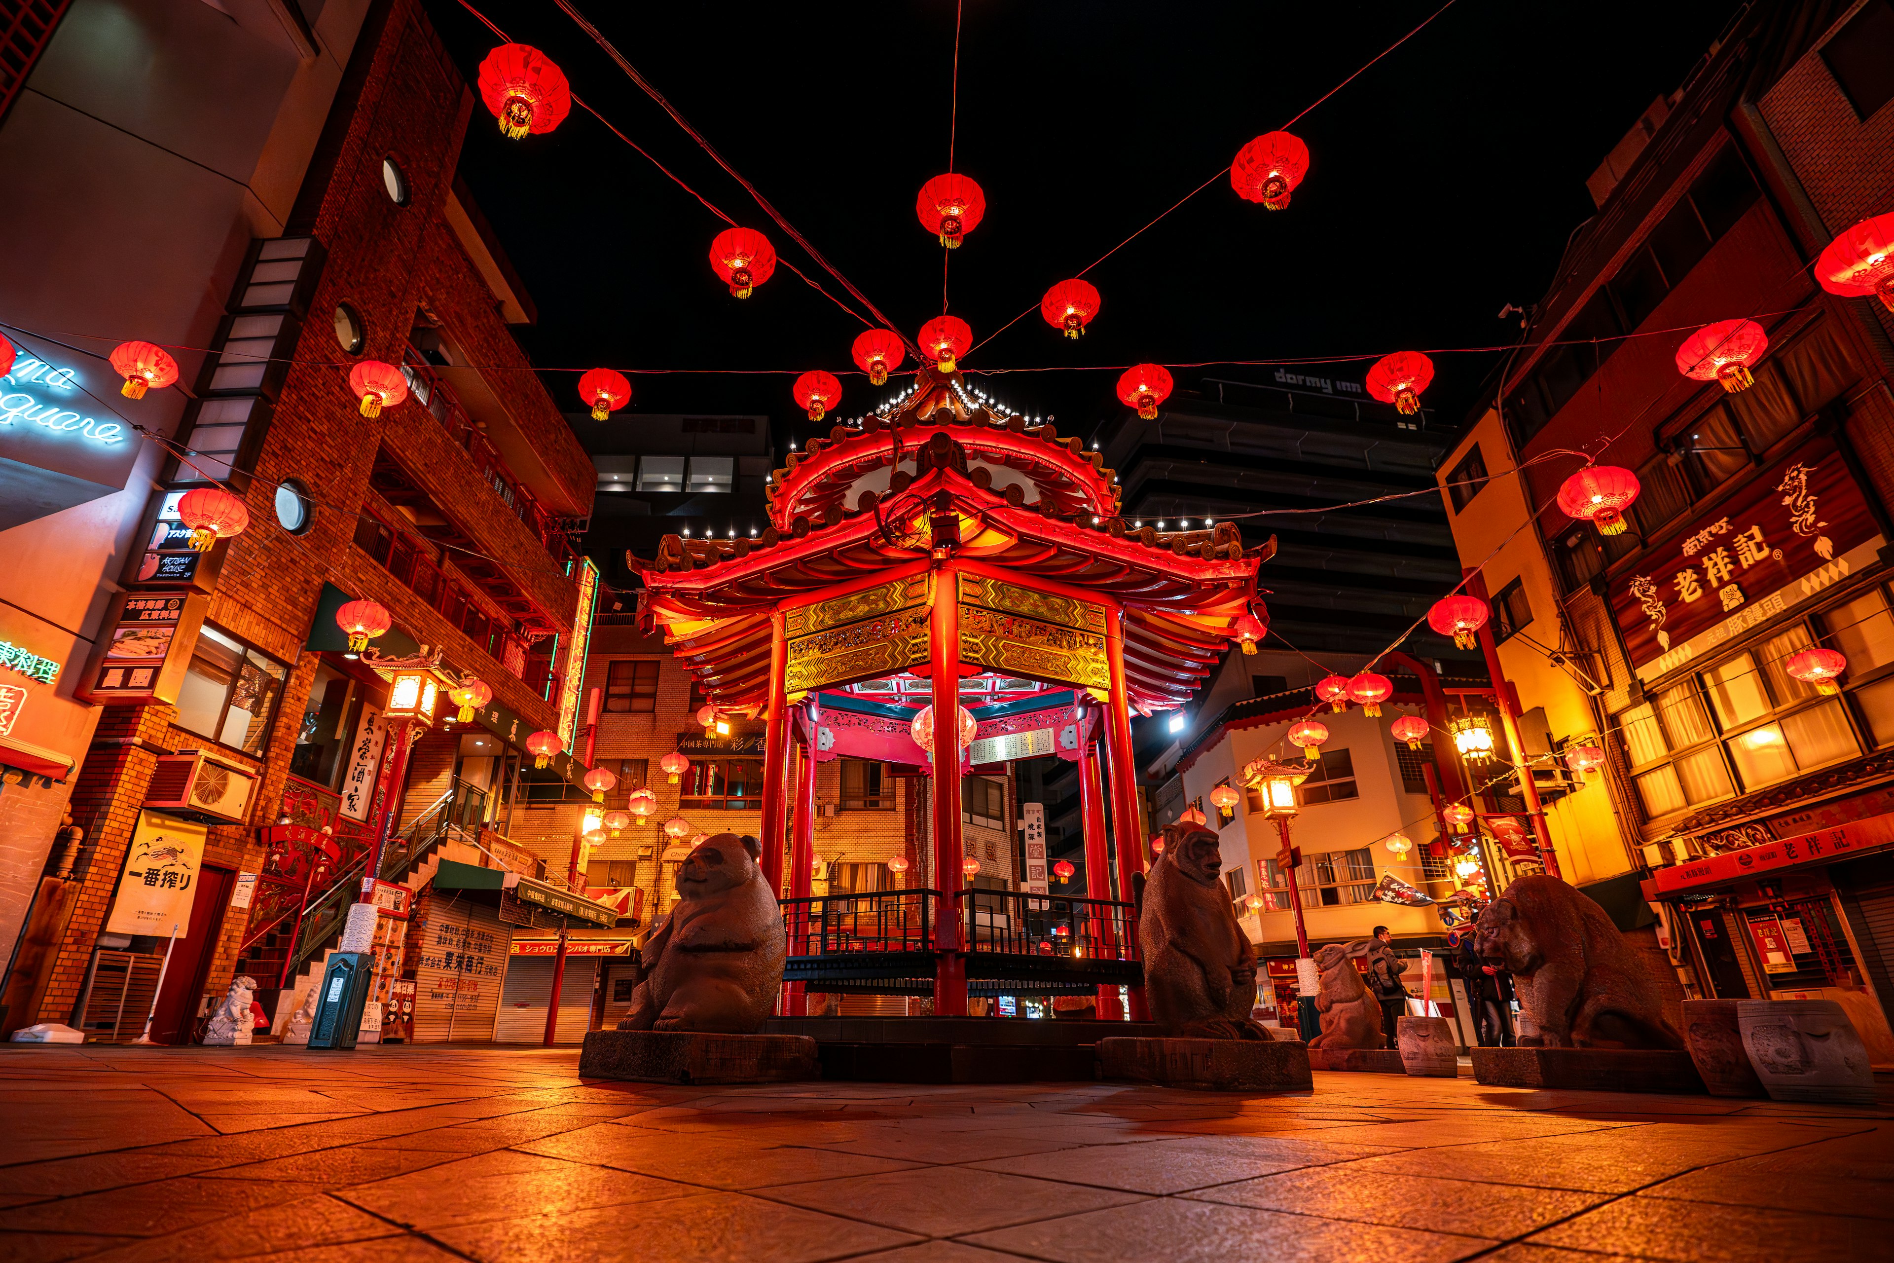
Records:
{"label": "plump seated stone animal statue left of the pavilion railing", "polygon": [[718,833],[678,869],[678,903],[638,954],[619,1030],[756,1034],[775,1013],[788,949],[754,837]]}

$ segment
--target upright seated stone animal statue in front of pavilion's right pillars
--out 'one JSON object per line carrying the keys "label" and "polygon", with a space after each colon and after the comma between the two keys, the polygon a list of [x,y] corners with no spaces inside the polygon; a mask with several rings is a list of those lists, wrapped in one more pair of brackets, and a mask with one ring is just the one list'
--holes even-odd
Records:
{"label": "upright seated stone animal statue in front of pavilion's right pillars", "polygon": [[1136,898],[1152,1021],[1172,1038],[1267,1040],[1250,1021],[1256,949],[1229,905],[1216,833],[1169,826]]}

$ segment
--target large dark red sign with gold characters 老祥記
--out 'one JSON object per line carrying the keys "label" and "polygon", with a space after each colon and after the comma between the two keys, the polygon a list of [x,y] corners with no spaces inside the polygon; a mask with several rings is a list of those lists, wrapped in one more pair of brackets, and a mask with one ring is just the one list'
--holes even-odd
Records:
{"label": "large dark red sign with gold characters \u8001\u7965\u8a18", "polygon": [[1653,680],[1839,583],[1881,543],[1833,439],[1816,439],[1646,549],[1612,579],[1612,614]]}

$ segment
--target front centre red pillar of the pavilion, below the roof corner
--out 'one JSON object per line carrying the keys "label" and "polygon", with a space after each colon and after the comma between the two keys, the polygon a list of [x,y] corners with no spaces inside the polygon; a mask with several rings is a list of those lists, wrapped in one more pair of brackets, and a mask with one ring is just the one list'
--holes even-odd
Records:
{"label": "front centre red pillar of the pavilion, below the roof corner", "polygon": [[934,877],[941,886],[934,947],[934,1013],[966,1015],[966,958],[960,954],[960,576],[951,566],[934,572],[934,610],[928,625],[928,665],[934,670]]}

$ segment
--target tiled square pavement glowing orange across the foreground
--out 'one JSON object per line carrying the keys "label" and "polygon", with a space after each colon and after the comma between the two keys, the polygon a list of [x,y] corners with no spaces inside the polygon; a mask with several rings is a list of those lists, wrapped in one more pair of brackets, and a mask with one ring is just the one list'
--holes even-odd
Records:
{"label": "tiled square pavement glowing orange across the foreground", "polygon": [[570,1049],[0,1045],[0,1263],[1894,1259],[1894,1091],[672,1089]]}

